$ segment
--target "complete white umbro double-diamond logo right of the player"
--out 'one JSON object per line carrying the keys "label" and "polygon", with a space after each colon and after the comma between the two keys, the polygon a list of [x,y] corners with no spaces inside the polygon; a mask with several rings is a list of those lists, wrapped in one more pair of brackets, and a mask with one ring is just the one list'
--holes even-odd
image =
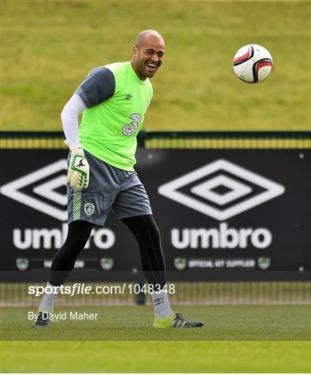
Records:
{"label": "complete white umbro double-diamond logo right of the player", "polygon": [[285,192],[285,187],[255,172],[218,159],[161,185],[159,194],[223,221]]}

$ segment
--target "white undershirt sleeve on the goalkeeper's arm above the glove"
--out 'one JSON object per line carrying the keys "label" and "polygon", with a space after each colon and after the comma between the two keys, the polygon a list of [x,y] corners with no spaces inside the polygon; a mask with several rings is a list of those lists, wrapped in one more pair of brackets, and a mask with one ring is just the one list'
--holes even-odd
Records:
{"label": "white undershirt sleeve on the goalkeeper's arm above the glove", "polygon": [[61,113],[61,121],[63,123],[63,129],[66,140],[69,147],[78,146],[81,147],[79,141],[79,115],[86,110],[81,97],[74,93],[70,100],[65,104]]}

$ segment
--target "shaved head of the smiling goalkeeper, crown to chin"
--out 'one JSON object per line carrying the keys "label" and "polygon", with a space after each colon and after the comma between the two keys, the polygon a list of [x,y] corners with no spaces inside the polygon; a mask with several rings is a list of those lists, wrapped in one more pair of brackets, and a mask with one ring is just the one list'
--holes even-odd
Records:
{"label": "shaved head of the smiling goalkeeper, crown to chin", "polygon": [[143,30],[133,47],[131,66],[141,80],[152,78],[164,59],[164,38],[155,30]]}

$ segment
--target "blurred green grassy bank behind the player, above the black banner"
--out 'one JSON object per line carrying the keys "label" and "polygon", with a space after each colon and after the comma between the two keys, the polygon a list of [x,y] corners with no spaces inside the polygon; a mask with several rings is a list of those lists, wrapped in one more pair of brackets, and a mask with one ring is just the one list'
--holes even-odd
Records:
{"label": "blurred green grassy bank behind the player, above the black banner", "polygon": [[[61,130],[63,105],[88,71],[129,60],[144,28],[166,39],[145,129],[310,129],[310,1],[1,4],[3,129]],[[272,53],[264,83],[243,83],[232,71],[248,43]]]}

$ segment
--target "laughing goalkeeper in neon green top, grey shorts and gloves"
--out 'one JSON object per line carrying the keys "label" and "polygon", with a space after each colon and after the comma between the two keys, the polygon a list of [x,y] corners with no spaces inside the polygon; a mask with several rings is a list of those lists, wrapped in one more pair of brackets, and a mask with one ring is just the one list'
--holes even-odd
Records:
{"label": "laughing goalkeeper in neon green top, grey shorts and gloves", "polygon": [[[53,312],[57,290],[74,268],[93,226],[104,226],[111,209],[138,241],[148,283],[155,290],[157,285],[161,289],[166,285],[159,230],[145,188],[134,171],[136,137],[152,100],[149,78],[163,60],[164,39],[157,31],[142,31],[130,61],[93,69],[63,109],[61,119],[70,147],[68,234],[54,256],[47,283],[56,287],[56,292],[43,297],[33,328],[49,328],[45,313]],[[154,327],[203,326],[173,313],[165,290],[151,297]]]}

